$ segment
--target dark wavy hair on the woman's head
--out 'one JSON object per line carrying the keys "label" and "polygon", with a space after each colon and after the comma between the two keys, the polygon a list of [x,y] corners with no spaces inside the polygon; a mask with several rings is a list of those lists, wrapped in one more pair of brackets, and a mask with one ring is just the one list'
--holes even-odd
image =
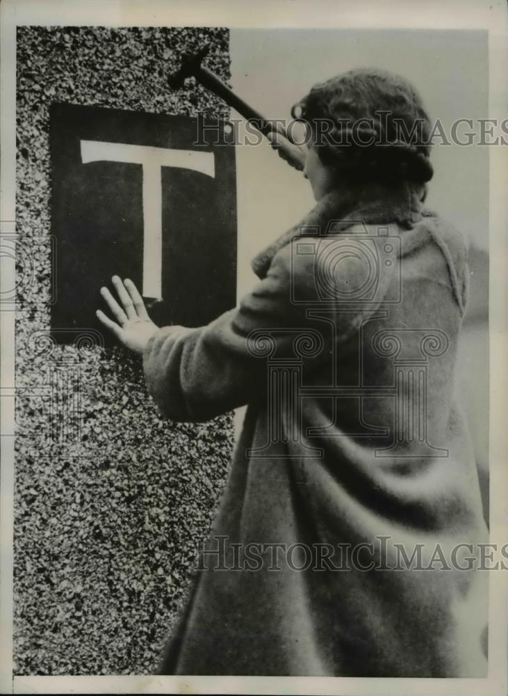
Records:
{"label": "dark wavy hair on the woman's head", "polygon": [[429,161],[429,116],[400,75],[361,68],[316,84],[291,115],[306,123],[323,164],[359,181],[424,184]]}

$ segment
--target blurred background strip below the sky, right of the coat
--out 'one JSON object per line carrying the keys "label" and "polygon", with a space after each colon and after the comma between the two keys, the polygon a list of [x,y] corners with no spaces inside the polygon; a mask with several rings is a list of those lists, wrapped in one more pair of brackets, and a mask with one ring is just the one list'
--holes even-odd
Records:
{"label": "blurred background strip below the sky, right of the coat", "polygon": [[489,523],[489,255],[469,250],[469,300],[459,349],[459,394],[473,440]]}

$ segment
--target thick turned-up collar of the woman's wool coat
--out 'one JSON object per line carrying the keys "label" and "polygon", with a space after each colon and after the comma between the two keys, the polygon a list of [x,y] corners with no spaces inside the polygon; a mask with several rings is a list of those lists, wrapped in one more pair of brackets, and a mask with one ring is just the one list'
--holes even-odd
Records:
{"label": "thick turned-up collar of the woman's wool coat", "polygon": [[[260,251],[251,262],[259,278],[265,278],[275,254],[297,235],[311,228],[325,230],[334,221],[334,232],[342,232],[359,221],[369,223],[398,223],[411,229],[426,211],[423,210],[425,187],[386,188],[379,184],[355,189],[331,191],[295,226],[275,242]],[[338,223],[338,224],[337,224]]]}

